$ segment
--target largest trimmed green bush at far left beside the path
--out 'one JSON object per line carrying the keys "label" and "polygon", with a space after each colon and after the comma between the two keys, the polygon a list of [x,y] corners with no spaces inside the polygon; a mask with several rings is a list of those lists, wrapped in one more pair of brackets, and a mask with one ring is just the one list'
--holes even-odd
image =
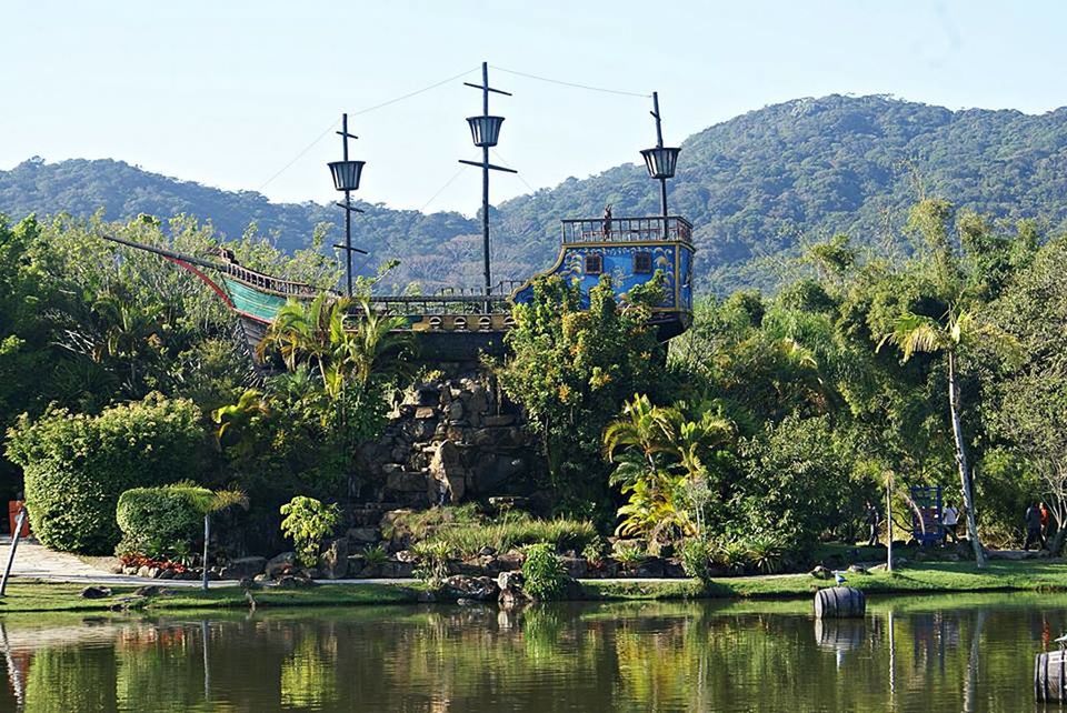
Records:
{"label": "largest trimmed green bush at far left beside the path", "polygon": [[185,399],[152,394],[100,415],[49,410],[8,430],[7,455],[22,466],[40,541],[53,549],[110,554],[121,533],[119,495],[198,474],[205,433]]}

